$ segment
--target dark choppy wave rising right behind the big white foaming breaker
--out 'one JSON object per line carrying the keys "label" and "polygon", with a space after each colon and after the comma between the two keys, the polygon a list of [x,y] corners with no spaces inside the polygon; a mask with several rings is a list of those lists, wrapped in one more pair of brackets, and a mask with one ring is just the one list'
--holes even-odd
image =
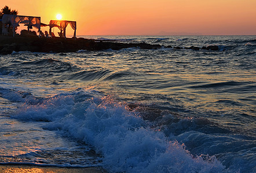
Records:
{"label": "dark choppy wave rising right behind the big white foaming breaker", "polygon": [[231,133],[232,131],[210,121],[207,118],[184,117],[177,112],[160,110],[158,108],[129,105],[131,110],[136,110],[145,121],[150,121],[153,128],[160,128],[166,136],[179,135],[186,131],[200,131],[205,134]]}

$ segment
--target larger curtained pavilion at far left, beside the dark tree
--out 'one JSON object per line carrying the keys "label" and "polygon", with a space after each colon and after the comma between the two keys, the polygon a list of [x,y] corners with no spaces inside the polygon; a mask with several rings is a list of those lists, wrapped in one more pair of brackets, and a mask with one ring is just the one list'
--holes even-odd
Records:
{"label": "larger curtained pavilion at far left, beside the dark tree", "polygon": [[13,36],[15,33],[15,28],[19,27],[19,24],[27,25],[28,28],[36,27],[38,28],[38,32],[41,31],[41,17],[4,14],[2,17],[3,26],[5,24],[8,24],[9,22],[10,24],[12,24],[12,27],[13,27]]}

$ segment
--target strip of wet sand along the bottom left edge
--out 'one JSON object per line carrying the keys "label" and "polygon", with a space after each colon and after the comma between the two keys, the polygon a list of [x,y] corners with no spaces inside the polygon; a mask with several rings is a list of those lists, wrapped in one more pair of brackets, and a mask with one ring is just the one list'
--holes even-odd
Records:
{"label": "strip of wet sand along the bottom left edge", "polygon": [[34,166],[26,164],[0,164],[0,172],[51,172],[51,173],[101,173],[107,172],[100,167],[86,167],[86,168],[73,168],[73,167],[52,167],[52,166]]}

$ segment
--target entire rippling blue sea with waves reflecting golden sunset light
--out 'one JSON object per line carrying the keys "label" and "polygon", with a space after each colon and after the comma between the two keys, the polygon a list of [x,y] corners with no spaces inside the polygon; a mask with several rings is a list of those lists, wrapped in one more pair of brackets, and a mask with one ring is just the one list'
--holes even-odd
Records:
{"label": "entire rippling blue sea with waves reflecting golden sunset light", "polygon": [[162,48],[0,55],[0,164],[256,172],[256,36],[79,37]]}

